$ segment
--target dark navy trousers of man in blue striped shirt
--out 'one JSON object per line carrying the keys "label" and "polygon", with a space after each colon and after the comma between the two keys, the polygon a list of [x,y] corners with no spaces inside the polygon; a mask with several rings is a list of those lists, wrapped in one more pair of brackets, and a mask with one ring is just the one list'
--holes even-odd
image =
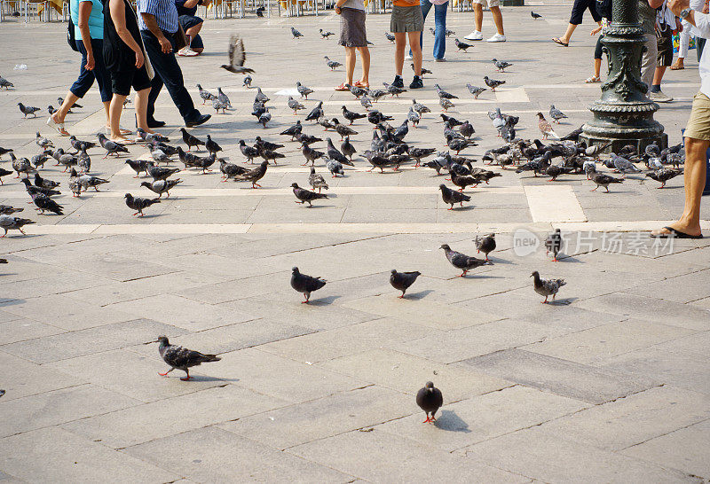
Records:
{"label": "dark navy trousers of man in blue striped shirt", "polygon": [[172,98],[172,102],[175,103],[177,110],[185,121],[194,121],[199,118],[200,112],[195,109],[193,98],[190,98],[190,94],[185,89],[183,71],[177,64],[177,59],[175,59],[174,35],[169,32],[163,32],[172,44],[172,52],[164,54],[161,50],[161,44],[155,35],[148,30],[141,30],[140,34],[143,36],[143,43],[146,45],[146,52],[155,73],[151,82],[150,94],[148,94],[148,120],[154,119],[155,99],[158,98],[163,83],[170,94],[170,98]]}

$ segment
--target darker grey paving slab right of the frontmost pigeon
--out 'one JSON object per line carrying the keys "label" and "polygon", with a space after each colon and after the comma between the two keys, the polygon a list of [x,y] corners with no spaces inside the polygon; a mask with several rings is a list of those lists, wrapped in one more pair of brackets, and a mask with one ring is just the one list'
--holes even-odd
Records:
{"label": "darker grey paving slab right of the frontmost pigeon", "polygon": [[461,364],[502,379],[597,404],[654,386],[649,379],[631,379],[620,372],[599,370],[521,349],[497,351]]}

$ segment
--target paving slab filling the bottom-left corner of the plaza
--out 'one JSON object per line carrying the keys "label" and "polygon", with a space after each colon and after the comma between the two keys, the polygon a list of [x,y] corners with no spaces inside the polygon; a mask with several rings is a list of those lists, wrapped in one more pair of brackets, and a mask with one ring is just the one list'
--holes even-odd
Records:
{"label": "paving slab filling the bottom-left corner of the plaza", "polygon": [[0,466],[28,482],[160,483],[179,477],[58,427],[0,439]]}

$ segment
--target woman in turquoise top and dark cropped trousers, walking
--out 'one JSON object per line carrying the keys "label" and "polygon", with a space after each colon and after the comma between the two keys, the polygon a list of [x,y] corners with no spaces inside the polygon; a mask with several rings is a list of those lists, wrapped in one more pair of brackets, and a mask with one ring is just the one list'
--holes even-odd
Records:
{"label": "woman in turquoise top and dark cropped trousers, walking", "polygon": [[[106,129],[110,129],[108,108],[111,103],[111,75],[104,65],[104,5],[101,0],[70,0],[69,12],[74,24],[76,50],[82,54],[79,77],[64,96],[59,109],[51,113],[47,125],[56,129],[59,135],[68,137],[64,119],[75,102],[83,98],[96,80],[99,84],[101,102],[106,111]],[[122,134],[130,135],[125,130]]]}

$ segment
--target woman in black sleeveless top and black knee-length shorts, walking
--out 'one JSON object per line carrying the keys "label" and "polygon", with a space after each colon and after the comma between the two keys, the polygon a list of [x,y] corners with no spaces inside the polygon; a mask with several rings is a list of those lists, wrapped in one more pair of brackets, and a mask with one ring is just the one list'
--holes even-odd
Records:
{"label": "woman in black sleeveless top and black knee-length shorts, walking", "polygon": [[132,143],[124,137],[120,129],[123,101],[132,87],[136,91],[137,128],[152,133],[148,127],[146,113],[150,92],[150,73],[146,66],[146,56],[138,31],[138,18],[128,0],[104,1],[104,45],[103,56],[106,70],[111,74],[111,105],[108,115],[111,125],[109,139],[120,143]]}

